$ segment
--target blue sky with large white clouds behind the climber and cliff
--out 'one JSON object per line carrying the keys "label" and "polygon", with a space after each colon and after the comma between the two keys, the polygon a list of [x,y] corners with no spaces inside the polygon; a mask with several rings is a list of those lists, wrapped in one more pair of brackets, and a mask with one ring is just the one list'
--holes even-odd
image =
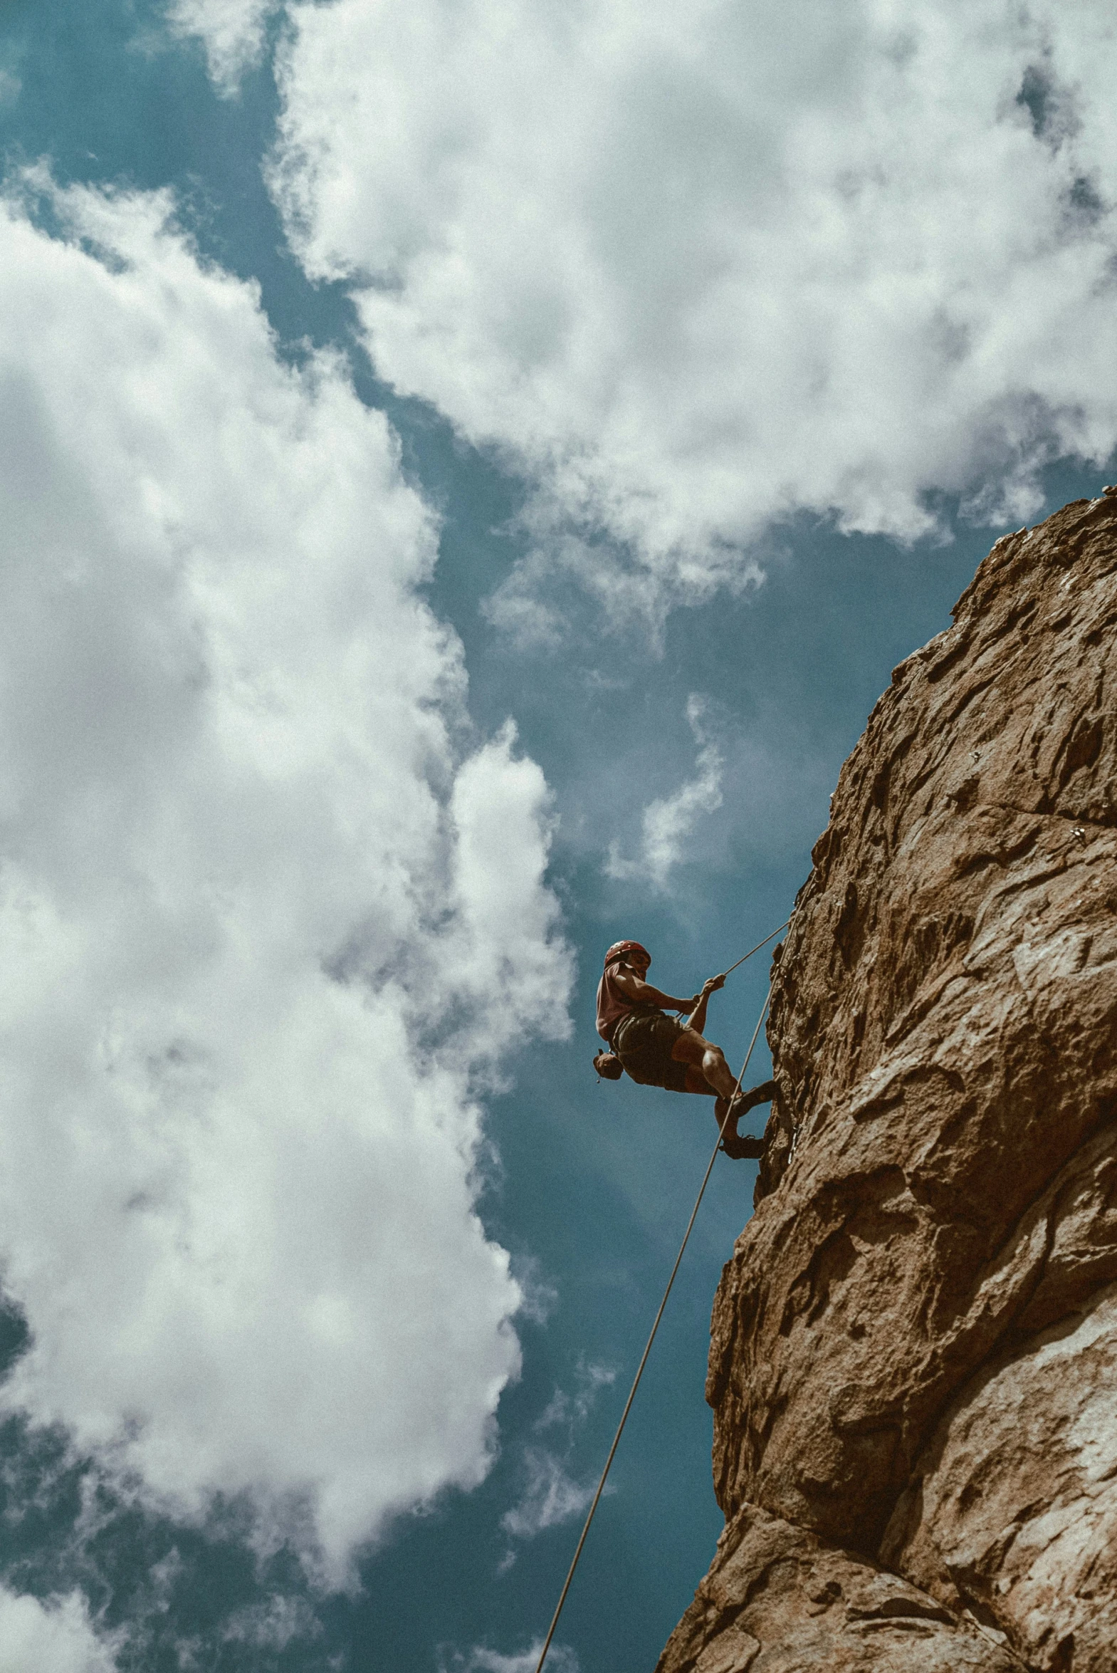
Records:
{"label": "blue sky with large white clouds behind the climber and cliff", "polygon": [[[0,1673],[532,1673],[716,1136],[600,955],[776,929],[1112,478],[1115,77],[1100,0],[0,0]],[[555,1673],[709,1564],[754,1178]]]}

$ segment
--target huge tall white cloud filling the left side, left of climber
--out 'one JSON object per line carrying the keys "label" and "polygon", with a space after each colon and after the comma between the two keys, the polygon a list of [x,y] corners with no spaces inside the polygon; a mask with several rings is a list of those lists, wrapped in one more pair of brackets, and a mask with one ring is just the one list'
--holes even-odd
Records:
{"label": "huge tall white cloud filling the left side, left of climber", "polygon": [[[32,182],[33,184],[33,182]],[[470,741],[436,530],[162,197],[0,209],[8,1409],[343,1581],[487,1471],[478,1092],[562,1034],[548,793]],[[28,187],[30,189],[30,187]]]}

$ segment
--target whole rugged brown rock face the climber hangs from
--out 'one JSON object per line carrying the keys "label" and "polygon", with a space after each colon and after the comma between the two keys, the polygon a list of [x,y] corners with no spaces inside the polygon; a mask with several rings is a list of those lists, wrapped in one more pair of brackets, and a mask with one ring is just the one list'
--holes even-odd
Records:
{"label": "whole rugged brown rock face the climber hangs from", "polygon": [[813,860],[661,1673],[1114,1673],[1114,490],[997,542]]}

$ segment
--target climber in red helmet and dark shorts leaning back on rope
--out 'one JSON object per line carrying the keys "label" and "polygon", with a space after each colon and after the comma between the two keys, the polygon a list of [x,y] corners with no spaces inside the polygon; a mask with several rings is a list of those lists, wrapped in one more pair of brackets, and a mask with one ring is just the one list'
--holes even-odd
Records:
{"label": "climber in red helmet and dark shorts leaning back on rope", "polygon": [[[764,1081],[734,1097],[736,1079],[726,1056],[702,1034],[709,995],[724,985],[726,977],[711,975],[702,982],[701,994],[676,999],[645,980],[650,962],[652,955],[640,942],[614,942],[605,954],[597,987],[597,1032],[609,1051],[594,1057],[594,1067],[609,1081],[617,1081],[624,1071],[640,1086],[712,1096],[726,1154],[734,1159],[763,1156],[764,1141],[739,1134],[737,1121],[754,1104],[769,1103],[776,1084]],[[686,1014],[676,1019],[667,1010]]]}

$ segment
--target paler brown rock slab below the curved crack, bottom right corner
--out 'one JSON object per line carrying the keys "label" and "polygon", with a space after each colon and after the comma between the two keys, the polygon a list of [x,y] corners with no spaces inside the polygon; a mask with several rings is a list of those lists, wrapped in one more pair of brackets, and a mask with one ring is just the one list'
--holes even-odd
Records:
{"label": "paler brown rock slab below the curved crack, bottom right corner", "polygon": [[943,1417],[883,1556],[1032,1666],[1117,1663],[1117,1285],[980,1372]]}

